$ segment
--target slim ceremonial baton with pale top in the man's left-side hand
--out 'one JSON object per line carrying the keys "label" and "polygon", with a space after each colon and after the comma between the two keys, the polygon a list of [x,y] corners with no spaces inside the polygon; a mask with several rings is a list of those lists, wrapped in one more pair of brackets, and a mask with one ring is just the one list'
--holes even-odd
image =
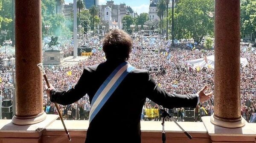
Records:
{"label": "slim ceremonial baton with pale top in the man's left-side hand", "polygon": [[[39,69],[40,69],[40,71],[41,71],[41,73],[42,73],[42,75],[43,75],[43,77],[44,77],[44,80],[45,80],[45,82],[46,82],[46,84],[47,84],[47,87],[50,88],[50,84],[49,84],[48,79],[47,79],[47,77],[46,77],[46,73],[45,73],[45,71],[44,71],[43,64],[42,64],[42,63],[38,64],[38,67],[39,67]],[[64,123],[64,121],[63,121],[63,118],[62,118],[60,109],[58,108],[58,105],[57,105],[56,102],[54,102],[54,105],[55,105],[55,107],[56,107],[56,109],[57,109],[57,111],[58,111],[58,115],[59,115],[59,117],[60,117],[60,119],[61,119],[62,125],[64,126],[64,129],[65,129],[65,132],[66,132],[66,134],[67,134],[68,140],[71,141],[71,137],[70,137],[69,132],[67,131],[67,128],[66,128],[66,126],[65,126],[65,123]]]}

